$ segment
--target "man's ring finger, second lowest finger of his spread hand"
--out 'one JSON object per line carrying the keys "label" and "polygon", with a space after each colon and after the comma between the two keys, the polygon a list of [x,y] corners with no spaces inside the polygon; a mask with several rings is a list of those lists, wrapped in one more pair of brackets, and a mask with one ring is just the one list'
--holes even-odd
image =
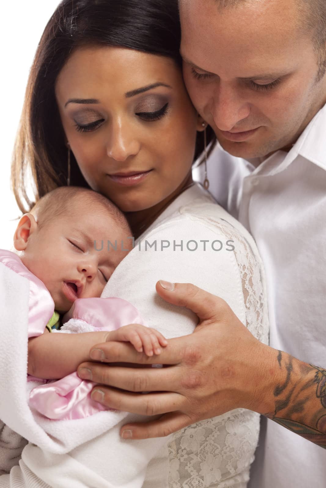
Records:
{"label": "man's ring finger, second lowest finger of his spread hand", "polygon": [[[98,396],[100,392],[100,396]],[[166,411],[181,408],[184,397],[178,393],[131,393],[105,386],[95,386],[91,393],[95,401],[116,410],[136,413],[139,415],[162,415]]]}

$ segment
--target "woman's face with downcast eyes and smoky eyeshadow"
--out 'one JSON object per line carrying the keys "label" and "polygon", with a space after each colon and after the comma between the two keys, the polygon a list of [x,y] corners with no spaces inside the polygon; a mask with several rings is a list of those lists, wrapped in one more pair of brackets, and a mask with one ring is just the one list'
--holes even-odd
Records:
{"label": "woman's face with downcast eyes and smoky eyeshadow", "polygon": [[202,121],[173,60],[78,49],[59,74],[56,98],[85,180],[121,210],[150,208],[189,177]]}

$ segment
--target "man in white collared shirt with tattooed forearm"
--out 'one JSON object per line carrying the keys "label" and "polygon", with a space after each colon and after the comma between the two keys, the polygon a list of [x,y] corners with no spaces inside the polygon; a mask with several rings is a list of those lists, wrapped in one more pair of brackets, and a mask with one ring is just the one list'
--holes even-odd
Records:
{"label": "man in white collared shirt with tattooed forearm", "polygon": [[[175,366],[114,372],[96,363],[82,366],[94,381],[111,386],[96,388],[96,400],[100,390],[110,407],[170,412],[145,425],[124,426],[123,436],[163,436],[236,407],[250,408],[265,416],[251,487],[322,488],[326,2],[180,0],[180,17],[186,85],[220,143],[209,167],[211,191],[254,236],[265,264],[270,347],[253,341],[217,297],[193,285],[163,282],[156,287],[161,297],[197,313],[194,334],[169,341],[159,360],[139,359],[126,344],[99,348],[107,362]],[[237,337],[231,350],[225,341],[230,334]],[[91,357],[100,359],[95,352]],[[139,391],[163,393],[132,393]]]}

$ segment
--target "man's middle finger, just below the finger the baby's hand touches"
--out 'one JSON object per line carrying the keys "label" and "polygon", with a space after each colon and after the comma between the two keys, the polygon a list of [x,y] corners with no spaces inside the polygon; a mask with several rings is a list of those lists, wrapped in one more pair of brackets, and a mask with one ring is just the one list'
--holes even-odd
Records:
{"label": "man's middle finger, just below the finger the baby's hand touches", "polygon": [[174,391],[178,384],[175,373],[169,367],[125,368],[109,367],[100,363],[83,363],[79,366],[77,374],[84,380],[134,392]]}

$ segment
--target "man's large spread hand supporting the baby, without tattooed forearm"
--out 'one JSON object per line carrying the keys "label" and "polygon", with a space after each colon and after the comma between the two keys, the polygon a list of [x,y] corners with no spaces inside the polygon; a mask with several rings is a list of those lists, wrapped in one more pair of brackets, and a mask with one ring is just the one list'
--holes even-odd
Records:
{"label": "man's large spread hand supporting the baby, without tattooed forearm", "polygon": [[[95,387],[94,400],[132,413],[163,414],[146,424],[122,427],[122,436],[162,437],[238,407],[271,411],[272,373],[266,374],[264,363],[270,361],[277,366],[277,351],[255,339],[226,302],[194,285],[176,284],[170,290],[169,284],[158,282],[156,291],[167,302],[197,314],[195,332],[169,340],[159,356],[149,358],[130,344],[108,342],[92,349],[90,358],[105,363],[167,367],[110,367],[90,362],[78,369],[81,378],[109,385]],[[151,393],[143,395],[139,393],[142,391]]]}

